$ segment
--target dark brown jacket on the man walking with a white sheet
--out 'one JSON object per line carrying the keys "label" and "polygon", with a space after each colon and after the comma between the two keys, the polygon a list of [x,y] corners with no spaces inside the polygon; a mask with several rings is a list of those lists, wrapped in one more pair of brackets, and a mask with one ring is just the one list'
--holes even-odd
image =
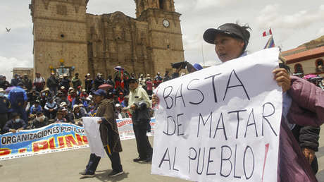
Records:
{"label": "dark brown jacket on the man walking with a white sheet", "polygon": [[100,136],[104,146],[109,145],[113,152],[122,152],[116,116],[115,105],[112,100],[104,99],[100,102],[96,117],[101,117]]}

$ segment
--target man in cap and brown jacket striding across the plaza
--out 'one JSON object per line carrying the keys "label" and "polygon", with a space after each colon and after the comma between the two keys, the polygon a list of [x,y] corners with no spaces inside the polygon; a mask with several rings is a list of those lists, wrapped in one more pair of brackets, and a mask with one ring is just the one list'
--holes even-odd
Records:
{"label": "man in cap and brown jacket striding across the plaza", "polygon": [[[111,99],[106,99],[106,91],[104,90],[96,90],[96,92],[93,92],[93,95],[94,102],[98,106],[96,117],[101,117],[101,120],[98,121],[98,123],[100,124],[99,131],[102,145],[104,145],[106,153],[111,160],[111,166],[113,169],[108,176],[118,176],[124,172],[119,155],[119,152],[122,152],[122,146],[116,123],[115,104]],[[96,156],[96,154],[90,154],[90,159],[86,169],[85,171],[80,172],[80,174],[82,176],[94,176],[94,172],[96,171],[100,159],[101,157]]]}

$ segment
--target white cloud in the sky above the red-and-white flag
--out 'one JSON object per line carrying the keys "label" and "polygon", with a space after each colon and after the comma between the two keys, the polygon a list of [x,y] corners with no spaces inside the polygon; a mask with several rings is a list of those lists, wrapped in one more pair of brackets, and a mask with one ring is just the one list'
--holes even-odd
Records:
{"label": "white cloud in the sky above the red-and-white flag", "polygon": [[280,4],[270,4],[260,11],[260,15],[256,19],[259,28],[266,30],[269,27],[306,28],[313,23],[321,22],[323,17],[324,5],[319,6],[316,11],[301,10],[289,14],[285,11],[285,7],[280,6]]}

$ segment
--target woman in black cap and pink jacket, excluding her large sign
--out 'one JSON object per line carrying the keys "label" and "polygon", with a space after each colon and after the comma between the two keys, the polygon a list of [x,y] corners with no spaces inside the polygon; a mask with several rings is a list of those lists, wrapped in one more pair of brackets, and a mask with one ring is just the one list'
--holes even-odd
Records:
{"label": "woman in black cap and pink jacket, excluding her large sign", "polygon": [[[248,29],[248,26],[226,23],[218,28],[206,30],[203,37],[206,42],[215,45],[215,51],[220,61],[226,62],[247,54],[245,50],[250,37]],[[285,68],[276,68],[272,73],[283,92],[278,181],[317,181],[311,171],[310,162],[306,161],[303,156],[289,126],[293,126],[292,123],[302,123],[301,121],[304,122],[304,125],[314,126],[323,123],[323,120],[318,122],[315,118],[324,117],[324,94],[321,90],[317,90],[315,85],[311,85],[301,78],[289,77]],[[320,97],[321,94],[322,97]],[[309,102],[304,104],[305,100]],[[152,101],[157,104],[158,98],[154,96]],[[317,103],[316,106],[315,103]],[[292,113],[292,111],[294,112]],[[304,115],[306,112],[307,116]],[[289,122],[287,122],[287,118],[289,118]]]}

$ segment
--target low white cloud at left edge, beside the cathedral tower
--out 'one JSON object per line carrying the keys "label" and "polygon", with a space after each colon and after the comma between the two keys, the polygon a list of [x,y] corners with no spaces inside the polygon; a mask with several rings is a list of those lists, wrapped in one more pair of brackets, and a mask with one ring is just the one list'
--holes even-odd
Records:
{"label": "low white cloud at left edge, beside the cathedral tower", "polygon": [[5,75],[9,82],[13,77],[13,68],[32,68],[32,63],[29,60],[19,60],[14,57],[6,58],[0,56],[0,65],[1,75]]}

